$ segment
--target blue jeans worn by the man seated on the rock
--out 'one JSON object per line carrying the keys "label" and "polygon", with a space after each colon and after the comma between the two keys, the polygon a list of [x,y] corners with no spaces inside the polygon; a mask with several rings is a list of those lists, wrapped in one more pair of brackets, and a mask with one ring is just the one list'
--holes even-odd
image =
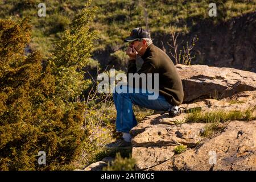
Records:
{"label": "blue jeans worn by the man seated on the rock", "polygon": [[[120,88],[122,89],[122,86]],[[117,110],[116,130],[118,132],[129,133],[137,125],[133,104],[152,110],[168,110],[172,107],[161,94],[156,100],[148,100],[148,96],[153,94],[148,93],[147,90],[146,93],[142,93],[142,89],[139,89],[139,93],[113,93],[115,109]]]}

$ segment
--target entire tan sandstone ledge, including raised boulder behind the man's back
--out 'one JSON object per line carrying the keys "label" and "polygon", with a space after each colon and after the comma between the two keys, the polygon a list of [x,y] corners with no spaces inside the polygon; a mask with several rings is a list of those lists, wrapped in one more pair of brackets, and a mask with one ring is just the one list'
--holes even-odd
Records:
{"label": "entire tan sandstone ledge, including raised boulder behind the man's back", "polygon": [[219,122],[217,131],[205,136],[211,123],[189,122],[191,113],[149,115],[130,131],[135,169],[256,170],[256,74],[206,65],[176,67],[184,88],[182,110],[200,107],[207,115],[249,109],[250,119]]}

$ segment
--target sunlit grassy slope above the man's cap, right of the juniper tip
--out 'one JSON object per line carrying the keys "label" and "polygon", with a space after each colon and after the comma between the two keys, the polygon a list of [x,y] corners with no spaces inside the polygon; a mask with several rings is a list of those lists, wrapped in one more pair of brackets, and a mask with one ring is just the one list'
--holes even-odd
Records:
{"label": "sunlit grassy slope above the man's cap, right of the juniper tip", "polygon": [[104,49],[105,45],[120,47],[131,28],[139,26],[146,28],[146,17],[148,28],[152,33],[169,34],[169,26],[174,26],[175,31],[188,32],[193,25],[202,20],[217,23],[219,20],[228,20],[254,11],[256,7],[253,1],[215,1],[218,16],[209,18],[210,2],[212,1],[94,1],[95,5],[100,7],[96,16],[97,23],[94,24],[94,27],[101,31],[98,48]]}

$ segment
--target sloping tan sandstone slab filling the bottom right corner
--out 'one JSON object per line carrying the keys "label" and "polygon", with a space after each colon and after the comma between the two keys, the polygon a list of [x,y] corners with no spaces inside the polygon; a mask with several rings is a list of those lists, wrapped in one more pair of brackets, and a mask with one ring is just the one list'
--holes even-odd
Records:
{"label": "sloping tan sandstone slab filling the bottom right corner", "polygon": [[256,170],[255,133],[255,120],[232,121],[221,135],[149,170]]}

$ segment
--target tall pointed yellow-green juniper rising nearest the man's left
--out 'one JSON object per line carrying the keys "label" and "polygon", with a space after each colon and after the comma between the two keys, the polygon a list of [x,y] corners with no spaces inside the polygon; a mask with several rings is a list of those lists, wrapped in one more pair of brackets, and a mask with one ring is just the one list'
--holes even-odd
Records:
{"label": "tall pointed yellow-green juniper rising nearest the man's left", "polygon": [[89,62],[96,31],[89,27],[96,7],[90,7],[90,2],[64,32],[63,38],[57,43],[51,67],[56,76],[56,95],[68,101],[82,94],[90,85],[90,80],[84,80],[82,68]]}

